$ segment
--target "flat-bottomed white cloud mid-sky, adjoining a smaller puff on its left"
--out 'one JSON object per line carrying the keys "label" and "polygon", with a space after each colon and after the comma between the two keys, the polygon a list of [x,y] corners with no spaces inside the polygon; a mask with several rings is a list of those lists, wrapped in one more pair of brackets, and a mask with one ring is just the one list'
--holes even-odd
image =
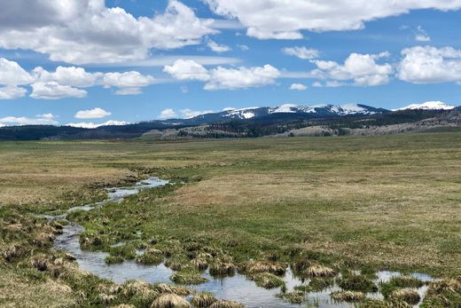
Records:
{"label": "flat-bottomed white cloud mid-sky, adjoining a smaller puff on its left", "polygon": [[205,90],[246,89],[273,84],[280,76],[276,67],[266,64],[263,67],[216,67],[210,71],[210,79]]}

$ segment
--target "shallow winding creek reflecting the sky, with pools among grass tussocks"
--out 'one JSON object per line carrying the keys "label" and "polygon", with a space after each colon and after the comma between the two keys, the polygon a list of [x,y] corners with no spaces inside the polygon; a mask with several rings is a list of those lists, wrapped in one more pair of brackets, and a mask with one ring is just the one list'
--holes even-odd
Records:
{"label": "shallow winding creek reflecting the sky, with pools among grass tussocks", "polygon": [[[48,216],[50,220],[66,219],[66,215],[74,210],[91,210],[95,207],[104,206],[108,202],[121,202],[127,196],[139,193],[141,190],[165,186],[168,181],[161,180],[159,178],[148,178],[146,180],[137,182],[133,186],[121,187],[121,188],[108,188],[107,199],[86,206],[79,206],[69,209],[66,214],[59,216]],[[63,233],[60,234],[54,241],[54,248],[64,250],[71,253],[77,260],[78,265],[84,271],[91,272],[100,278],[113,280],[116,283],[123,283],[126,280],[145,280],[150,283],[166,282],[171,283],[169,279],[173,274],[173,271],[168,269],[165,265],[140,265],[135,261],[124,261],[122,264],[106,265],[105,257],[108,253],[105,252],[94,252],[85,251],[80,248],[79,235],[85,229],[82,225],[77,225],[73,222],[69,222],[63,229]],[[142,253],[139,251],[139,253]],[[378,278],[376,282],[387,281],[394,276],[400,275],[399,272],[378,272]],[[424,275],[414,273],[413,276],[423,281],[431,281],[432,278]],[[213,293],[218,298],[238,301],[244,304],[248,308],[292,308],[300,307],[299,304],[289,304],[285,300],[277,298],[279,288],[265,289],[256,286],[254,281],[247,280],[246,276],[236,273],[232,277],[224,279],[215,279],[208,272],[204,273],[204,277],[207,278],[207,282],[193,286],[192,289],[197,291],[208,291]],[[293,291],[295,286],[303,284],[302,280],[294,277],[293,272],[288,269],[285,274],[286,290]],[[305,283],[305,282],[304,282]],[[311,292],[307,296],[308,304],[315,304],[313,306],[330,308],[330,307],[354,307],[353,304],[346,303],[334,303],[330,298],[332,291],[340,290],[338,286],[327,288],[322,292]],[[418,293],[424,298],[426,293],[426,286],[419,288]],[[377,293],[371,293],[367,295],[371,298],[382,298]],[[303,306],[306,306],[305,304]],[[418,305],[416,305],[418,306]]]}

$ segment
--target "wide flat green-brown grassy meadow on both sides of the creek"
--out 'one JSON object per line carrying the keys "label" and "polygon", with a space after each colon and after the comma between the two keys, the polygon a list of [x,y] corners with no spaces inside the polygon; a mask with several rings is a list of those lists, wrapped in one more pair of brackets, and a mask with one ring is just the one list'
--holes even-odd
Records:
{"label": "wide flat green-brown grassy meadow on both sides of the creek", "polygon": [[[71,257],[52,251],[45,235],[59,233],[59,225],[33,214],[102,200],[104,187],[146,176],[174,185],[69,217],[86,227],[82,247],[121,260],[135,257],[129,251],[135,246],[160,249],[185,281],[196,273],[185,265],[194,251],[214,257],[207,261],[217,272],[230,263],[251,272],[249,260],[294,268],[305,261],[339,272],[426,272],[456,287],[453,295],[447,293],[453,288],[439,286],[427,307],[461,304],[458,131],[4,142],[0,162],[0,306],[105,306],[100,295],[111,296],[106,288],[113,285],[78,272]],[[120,241],[127,251],[111,250]],[[13,257],[5,257],[14,247]],[[48,256],[48,268],[58,274],[41,271],[37,256]],[[144,306],[133,298],[114,303]]]}

